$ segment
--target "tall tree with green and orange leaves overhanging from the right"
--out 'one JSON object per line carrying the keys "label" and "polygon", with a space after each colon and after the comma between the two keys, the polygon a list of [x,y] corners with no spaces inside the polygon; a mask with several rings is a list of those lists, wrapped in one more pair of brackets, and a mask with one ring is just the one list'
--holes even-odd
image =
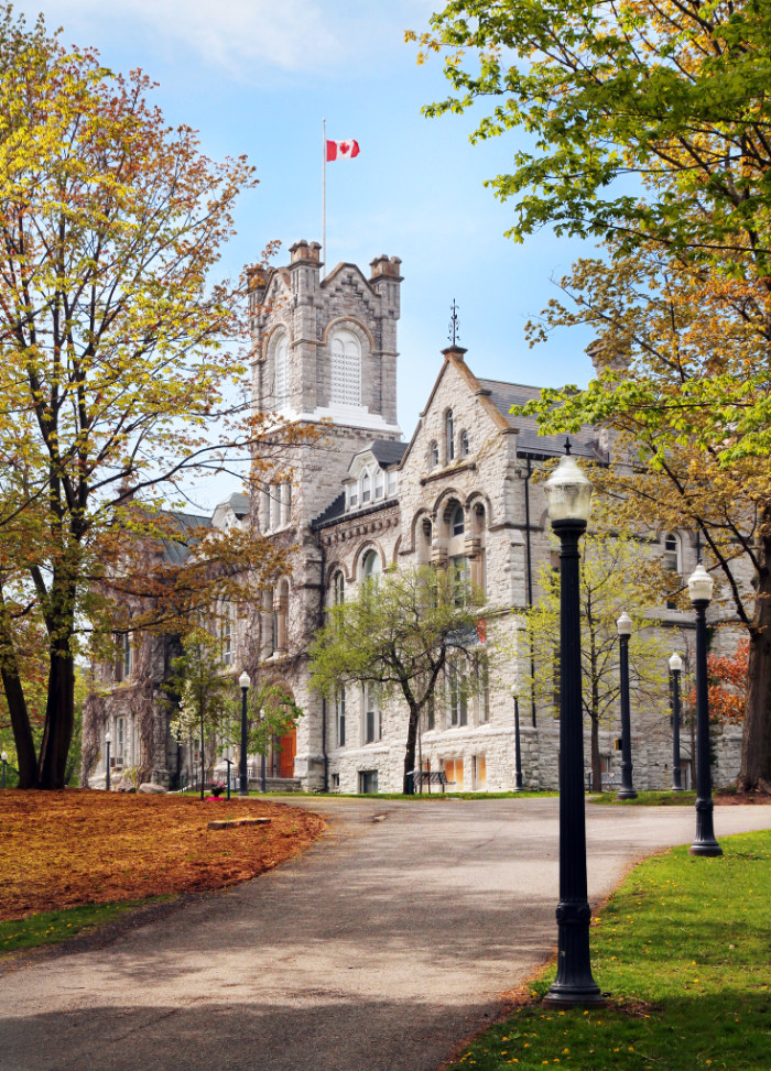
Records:
{"label": "tall tree with green and orange leaves overhanging from the right", "polygon": [[[771,8],[764,0],[453,0],[421,35],[473,140],[521,128],[511,236],[605,243],[569,316],[599,329],[589,390],[544,392],[545,431],[621,435],[615,490],[650,523],[701,529],[750,637],[742,765],[771,786]],[[413,34],[413,36],[416,36]],[[626,352],[625,352],[626,348]],[[753,591],[742,586],[746,555]]]}

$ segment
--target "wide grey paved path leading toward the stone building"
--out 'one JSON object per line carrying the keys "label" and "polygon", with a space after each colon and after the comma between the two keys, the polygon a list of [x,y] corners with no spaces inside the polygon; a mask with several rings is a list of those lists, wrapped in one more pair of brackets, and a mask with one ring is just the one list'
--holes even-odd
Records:
{"label": "wide grey paved path leading toward the stone building", "polygon": [[[0,977],[0,1067],[434,1071],[555,943],[557,800],[312,806],[329,833],[285,866]],[[770,819],[716,808],[716,833]],[[588,807],[593,900],[694,829]]]}

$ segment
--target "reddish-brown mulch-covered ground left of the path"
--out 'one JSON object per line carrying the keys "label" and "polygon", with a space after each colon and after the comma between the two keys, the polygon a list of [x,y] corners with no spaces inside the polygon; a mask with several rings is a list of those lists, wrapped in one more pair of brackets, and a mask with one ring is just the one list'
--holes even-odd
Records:
{"label": "reddish-brown mulch-covered ground left of the path", "polygon": [[[207,829],[262,816],[270,824]],[[253,798],[6,790],[0,919],[236,885],[303,851],[324,828],[318,815]]]}

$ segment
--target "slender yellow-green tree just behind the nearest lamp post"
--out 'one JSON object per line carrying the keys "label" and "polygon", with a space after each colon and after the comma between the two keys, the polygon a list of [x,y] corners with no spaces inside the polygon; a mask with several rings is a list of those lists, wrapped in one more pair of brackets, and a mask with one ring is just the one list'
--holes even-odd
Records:
{"label": "slender yellow-green tree just behind the nearest lamp post", "polygon": [[[622,613],[632,619],[629,641],[630,706],[633,728],[655,722],[665,707],[670,641],[656,632],[655,613],[664,598],[663,582],[641,560],[642,540],[618,531],[595,504],[582,539],[580,625],[582,700],[590,726],[591,782],[601,790],[599,730],[618,714],[620,695],[619,636]],[[556,546],[556,543],[555,543]],[[545,567],[539,576],[541,595],[524,618],[534,653],[534,688],[541,702],[558,701],[560,571]]]}

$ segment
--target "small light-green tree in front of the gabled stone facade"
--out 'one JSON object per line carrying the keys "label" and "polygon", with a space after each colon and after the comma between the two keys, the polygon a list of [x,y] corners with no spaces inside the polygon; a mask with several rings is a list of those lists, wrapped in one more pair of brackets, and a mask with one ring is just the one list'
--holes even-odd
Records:
{"label": "small light-green tree in front of the gabled stone facade", "polygon": [[[471,690],[489,670],[473,599],[446,569],[388,572],[333,606],[311,646],[311,682],[321,695],[334,697],[348,684],[362,684],[376,686],[383,699],[401,696],[406,702],[405,793],[415,768],[421,711],[438,684],[454,675]],[[458,659],[464,673],[456,675]]]}

